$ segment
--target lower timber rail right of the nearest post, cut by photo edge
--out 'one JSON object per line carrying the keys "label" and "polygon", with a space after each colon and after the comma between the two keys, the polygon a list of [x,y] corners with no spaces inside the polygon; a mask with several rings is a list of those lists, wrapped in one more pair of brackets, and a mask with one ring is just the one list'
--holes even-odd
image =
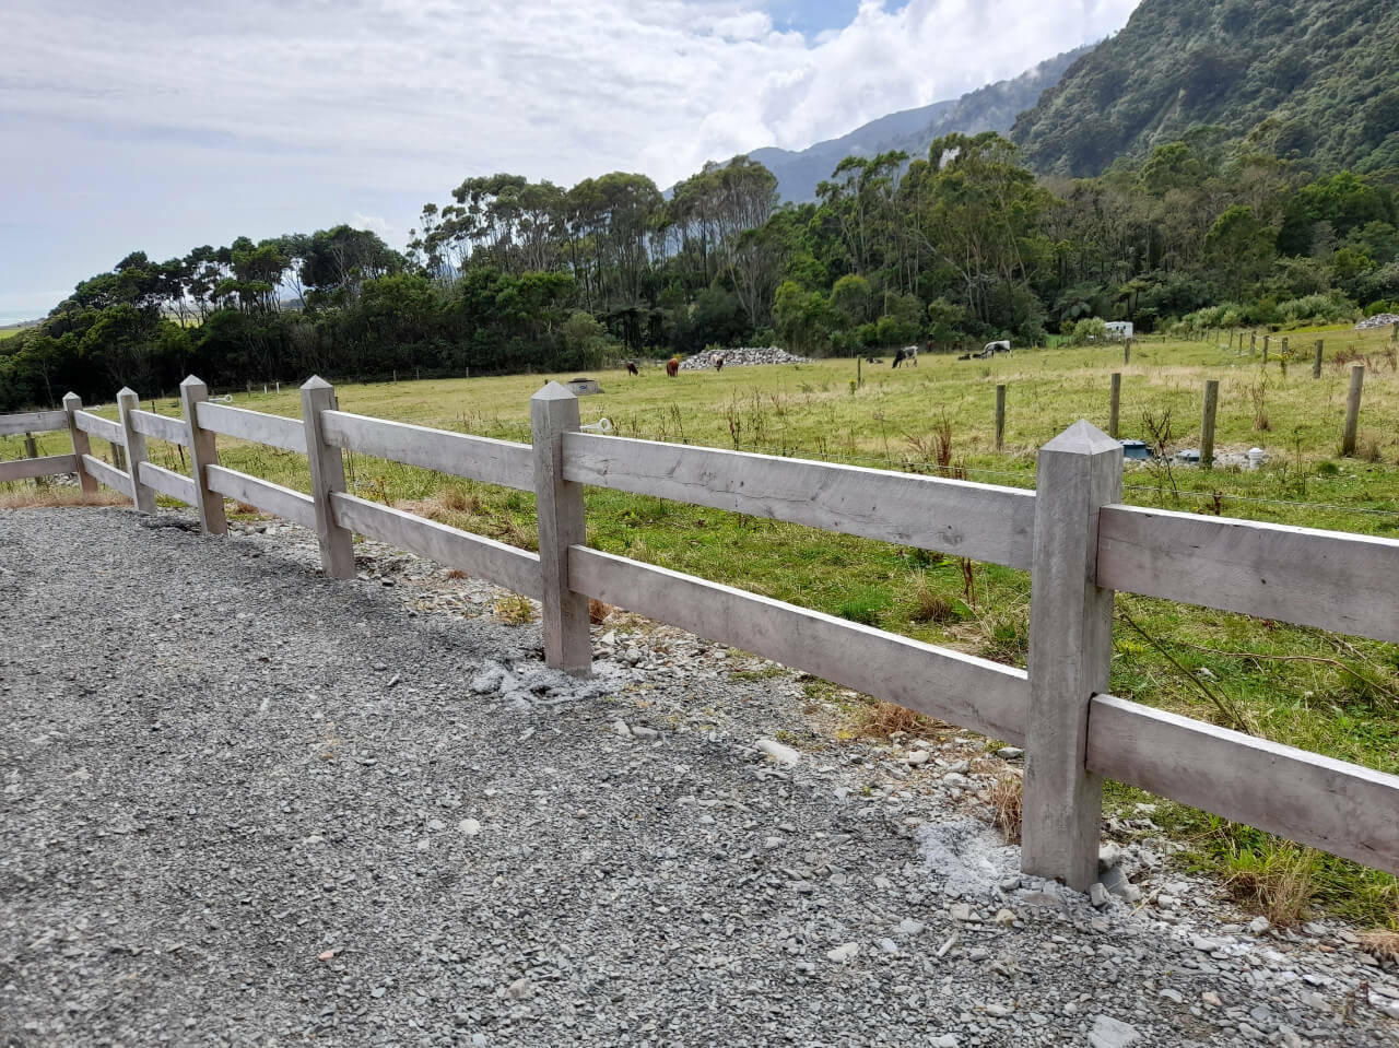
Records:
{"label": "lower timber rail right of the nearest post, cut by photo edge", "polygon": [[1399,874],[1399,777],[1097,695],[1097,775]]}

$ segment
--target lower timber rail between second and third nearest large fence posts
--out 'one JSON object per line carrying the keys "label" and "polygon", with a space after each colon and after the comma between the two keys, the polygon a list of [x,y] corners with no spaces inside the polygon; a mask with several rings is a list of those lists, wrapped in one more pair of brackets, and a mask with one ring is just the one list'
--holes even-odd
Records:
{"label": "lower timber rail between second and third nearest large fence posts", "polygon": [[537,553],[355,495],[336,493],[330,497],[330,508],[336,523],[351,532],[409,550],[448,568],[459,568],[536,600],[544,592]]}

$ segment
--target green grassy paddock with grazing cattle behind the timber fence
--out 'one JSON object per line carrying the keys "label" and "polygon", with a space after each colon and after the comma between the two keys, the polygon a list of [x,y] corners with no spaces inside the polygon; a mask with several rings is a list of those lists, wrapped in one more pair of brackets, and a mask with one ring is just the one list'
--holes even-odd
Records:
{"label": "green grassy paddock with grazing cattle behind the timber fence", "polygon": [[[953,473],[1031,487],[1035,449],[1077,418],[1107,428],[1109,374],[1122,372],[1121,435],[1167,451],[1198,446],[1202,390],[1220,381],[1217,453],[1263,448],[1256,470],[1133,463],[1125,498],[1137,505],[1399,534],[1399,353],[1389,332],[1288,333],[1301,350],[1266,367],[1223,346],[1146,341],[1122,365],[1121,346],[1020,351],[995,361],[922,357],[891,371],[852,360],[722,374],[595,374],[604,393],[581,402],[583,423],[606,416],[625,437],[776,455]],[[1311,376],[1311,347],[1326,362]],[[1260,343],[1259,343],[1260,344]],[[1339,458],[1350,361],[1365,374],[1358,453]],[[529,396],[546,376],[346,385],[348,411],[508,439],[527,439]],[[568,379],[571,375],[548,378]],[[993,404],[1007,386],[1004,448],[995,449]],[[235,403],[295,416],[294,389],[235,395]],[[176,414],[178,406],[157,409]],[[111,410],[104,411],[111,414]],[[1150,416],[1150,423],[1147,420]],[[1153,437],[1153,430],[1156,435]],[[66,437],[45,441],[62,451]],[[179,467],[178,449],[152,458]],[[0,458],[18,453],[0,441]],[[306,488],[305,459],[229,444],[222,460]],[[522,546],[534,544],[532,497],[427,470],[347,456],[368,498]],[[1024,665],[1028,579],[795,525],[655,498],[589,490],[589,543],[653,564],[743,586],[886,630]],[[1112,690],[1142,702],[1240,726],[1270,739],[1399,772],[1399,648],[1163,600],[1119,595]],[[820,690],[820,684],[813,684]],[[1114,788],[1116,805],[1150,800]],[[1301,852],[1177,805],[1157,820],[1195,841],[1205,866],[1258,884],[1304,868],[1316,900],[1351,916],[1399,926],[1393,879]]]}

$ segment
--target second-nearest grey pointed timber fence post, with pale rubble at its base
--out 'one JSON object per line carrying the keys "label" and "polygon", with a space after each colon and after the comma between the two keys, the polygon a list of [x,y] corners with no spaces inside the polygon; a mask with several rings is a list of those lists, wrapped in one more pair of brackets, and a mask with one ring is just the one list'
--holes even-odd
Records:
{"label": "second-nearest grey pointed timber fence post, with pale rubble at its base", "polygon": [[586,540],[583,486],[564,480],[564,434],[578,431],[578,397],[550,382],[530,397],[529,418],[544,576],[544,662],[568,673],[588,673],[593,666],[588,597],[568,585],[568,547]]}

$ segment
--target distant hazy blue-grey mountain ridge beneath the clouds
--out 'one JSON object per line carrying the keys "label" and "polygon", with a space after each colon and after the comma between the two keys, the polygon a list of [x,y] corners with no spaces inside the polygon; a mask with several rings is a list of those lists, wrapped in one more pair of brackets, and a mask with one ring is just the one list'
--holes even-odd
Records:
{"label": "distant hazy blue-grey mountain ridge beneath the clouds", "polygon": [[1076,59],[1090,50],[1093,45],[1067,50],[1013,80],[988,84],[961,98],[881,116],[849,134],[818,141],[802,151],[768,147],[753,150],[748,158],[778,176],[778,194],[783,201],[800,204],[816,200],[817,183],[828,179],[846,157],[873,157],[890,150],[922,157],[933,139],[944,134],[1010,130],[1016,116],[1034,105],[1045,88],[1052,87]]}

